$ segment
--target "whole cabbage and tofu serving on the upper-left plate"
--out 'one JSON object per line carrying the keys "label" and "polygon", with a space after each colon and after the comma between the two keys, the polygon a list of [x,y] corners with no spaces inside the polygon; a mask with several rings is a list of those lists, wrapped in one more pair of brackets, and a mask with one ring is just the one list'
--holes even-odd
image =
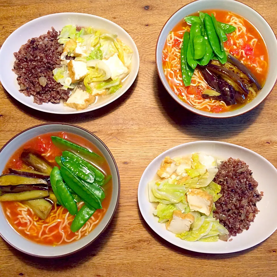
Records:
{"label": "whole cabbage and tofu serving on the upper-left plate", "polygon": [[130,73],[133,51],[115,34],[67,25],[58,42],[63,46],[62,66],[53,74],[63,89],[72,89],[66,106],[86,108],[97,97],[117,92]]}

